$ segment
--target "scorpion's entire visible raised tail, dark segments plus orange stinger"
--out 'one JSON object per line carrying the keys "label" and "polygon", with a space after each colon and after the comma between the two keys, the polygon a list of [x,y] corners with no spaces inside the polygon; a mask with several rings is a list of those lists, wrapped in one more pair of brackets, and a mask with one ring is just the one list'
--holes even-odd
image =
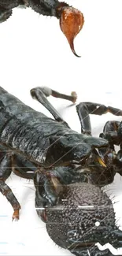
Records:
{"label": "scorpion's entire visible raised tail, dark segments plus orange stinger", "polygon": [[39,14],[59,19],[61,31],[68,39],[73,54],[79,57],[74,49],[73,41],[83,28],[83,13],[58,0],[0,0],[0,22],[7,20],[12,15],[12,9],[18,6],[30,7]]}

